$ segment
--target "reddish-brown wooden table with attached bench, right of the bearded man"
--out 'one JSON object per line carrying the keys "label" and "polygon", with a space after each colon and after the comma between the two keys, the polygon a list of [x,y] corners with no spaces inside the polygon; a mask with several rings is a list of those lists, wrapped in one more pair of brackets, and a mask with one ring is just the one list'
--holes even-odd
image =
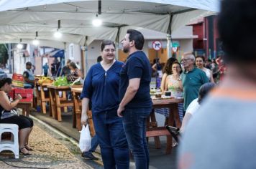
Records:
{"label": "reddish-brown wooden table with attached bench, right of the bearded man", "polygon": [[150,117],[147,119],[147,137],[154,137],[156,148],[160,148],[160,139],[159,136],[166,135],[167,137],[167,147],[166,154],[170,154],[172,149],[172,137],[170,132],[165,128],[165,126],[157,126],[157,121],[155,118],[155,108],[169,108],[170,113],[169,117],[165,119],[165,125],[173,126],[174,119],[177,123],[177,126],[180,127],[181,123],[178,117],[178,103],[182,103],[183,99],[165,99],[165,100],[152,100],[153,109],[150,113]]}

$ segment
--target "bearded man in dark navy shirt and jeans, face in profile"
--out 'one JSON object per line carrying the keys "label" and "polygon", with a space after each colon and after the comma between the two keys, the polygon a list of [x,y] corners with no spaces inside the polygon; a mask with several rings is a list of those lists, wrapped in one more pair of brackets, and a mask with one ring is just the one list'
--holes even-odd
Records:
{"label": "bearded man in dark navy shirt and jeans, face in profile", "polygon": [[123,52],[128,53],[127,62],[120,72],[117,110],[123,117],[124,131],[129,149],[134,155],[136,168],[149,168],[149,153],[146,140],[146,119],[152,110],[150,98],[151,66],[142,52],[142,33],[129,29],[122,40]]}

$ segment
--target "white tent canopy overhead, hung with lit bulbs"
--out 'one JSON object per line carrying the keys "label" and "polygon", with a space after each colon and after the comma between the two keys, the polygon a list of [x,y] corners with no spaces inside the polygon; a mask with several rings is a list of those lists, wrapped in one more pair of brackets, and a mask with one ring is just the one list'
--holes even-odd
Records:
{"label": "white tent canopy overhead, hung with lit bulbs", "polygon": [[[98,1],[0,0],[0,42],[37,39],[42,42],[76,43],[123,37],[127,28],[145,28],[171,33],[199,16],[218,11],[219,0],[101,1],[103,26],[91,22],[98,13]],[[6,11],[8,10],[8,11]],[[61,22],[61,39],[52,34]],[[87,37],[87,42],[86,42]],[[22,40],[22,42],[24,42]],[[42,43],[41,43],[42,44]],[[41,45],[40,44],[40,45]]]}

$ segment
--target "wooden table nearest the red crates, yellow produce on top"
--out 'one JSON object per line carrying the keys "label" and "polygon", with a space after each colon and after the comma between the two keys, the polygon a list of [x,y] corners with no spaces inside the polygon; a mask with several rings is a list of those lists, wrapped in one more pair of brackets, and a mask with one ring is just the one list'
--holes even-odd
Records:
{"label": "wooden table nearest the red crates, yellow produce on top", "polygon": [[[50,83],[39,84],[38,82],[35,84],[35,88],[37,92],[37,106],[41,107],[41,112],[43,114],[46,114],[46,102],[50,102],[50,94],[49,94],[47,85],[51,85],[51,84]],[[51,111],[51,109],[49,110]]]}

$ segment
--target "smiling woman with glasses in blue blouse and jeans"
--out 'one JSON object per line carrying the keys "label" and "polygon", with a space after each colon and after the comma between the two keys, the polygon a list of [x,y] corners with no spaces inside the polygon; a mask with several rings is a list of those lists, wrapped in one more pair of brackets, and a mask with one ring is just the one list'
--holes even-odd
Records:
{"label": "smiling woman with glasses in blue blouse and jeans", "polygon": [[129,168],[129,149],[119,107],[119,79],[123,63],[115,59],[115,44],[101,42],[102,61],[94,64],[83,84],[81,123],[87,124],[86,111],[91,100],[93,124],[99,138],[104,168]]}

